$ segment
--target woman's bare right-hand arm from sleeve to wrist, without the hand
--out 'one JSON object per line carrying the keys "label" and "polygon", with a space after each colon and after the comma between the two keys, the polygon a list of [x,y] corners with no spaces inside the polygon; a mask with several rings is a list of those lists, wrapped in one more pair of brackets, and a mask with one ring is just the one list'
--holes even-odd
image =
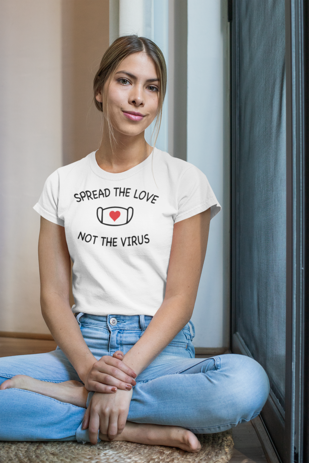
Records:
{"label": "woman's bare right-hand arm from sleeve to wrist, without the hand", "polygon": [[139,341],[123,361],[139,375],[192,316],[205,259],[210,208],[174,225],[165,297]]}

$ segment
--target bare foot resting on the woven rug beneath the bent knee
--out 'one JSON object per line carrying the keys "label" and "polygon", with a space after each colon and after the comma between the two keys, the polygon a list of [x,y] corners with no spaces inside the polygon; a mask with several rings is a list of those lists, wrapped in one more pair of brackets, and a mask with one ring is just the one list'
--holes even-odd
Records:
{"label": "bare foot resting on the woven rug beneath the bent knee", "polygon": [[[109,440],[108,436],[99,432],[101,440]],[[167,445],[179,447],[187,452],[198,452],[201,444],[193,432],[179,426],[164,426],[132,423],[127,421],[124,430],[114,440],[137,442],[148,445]]]}

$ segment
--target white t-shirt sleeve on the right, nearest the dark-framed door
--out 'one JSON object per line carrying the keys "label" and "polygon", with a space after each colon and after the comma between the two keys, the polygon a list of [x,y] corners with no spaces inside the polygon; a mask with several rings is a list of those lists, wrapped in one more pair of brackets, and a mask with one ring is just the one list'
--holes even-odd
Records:
{"label": "white t-shirt sleeve on the right, nearest the dark-framed door", "polygon": [[189,219],[210,207],[210,219],[221,210],[221,206],[209,185],[206,175],[195,166],[186,170],[178,188],[178,213],[175,223]]}

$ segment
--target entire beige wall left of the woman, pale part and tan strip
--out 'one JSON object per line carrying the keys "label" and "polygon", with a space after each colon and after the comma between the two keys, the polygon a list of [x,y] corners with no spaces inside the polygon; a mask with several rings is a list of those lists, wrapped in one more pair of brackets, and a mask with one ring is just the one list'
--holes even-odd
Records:
{"label": "entire beige wall left of the woman, pale part and tan strip", "polygon": [[89,107],[108,35],[108,0],[1,0],[2,331],[49,332],[32,206],[51,172],[100,142],[101,118]]}

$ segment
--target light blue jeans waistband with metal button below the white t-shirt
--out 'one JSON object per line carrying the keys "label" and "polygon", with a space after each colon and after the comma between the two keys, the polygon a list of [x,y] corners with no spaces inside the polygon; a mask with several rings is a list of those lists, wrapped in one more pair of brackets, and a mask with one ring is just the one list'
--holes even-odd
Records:
{"label": "light blue jeans waistband with metal button below the white t-shirt", "polygon": [[[152,317],[150,315],[91,315],[78,313],[76,320],[81,325],[100,326],[108,330],[141,330],[145,331]],[[117,322],[117,323],[116,323]]]}

